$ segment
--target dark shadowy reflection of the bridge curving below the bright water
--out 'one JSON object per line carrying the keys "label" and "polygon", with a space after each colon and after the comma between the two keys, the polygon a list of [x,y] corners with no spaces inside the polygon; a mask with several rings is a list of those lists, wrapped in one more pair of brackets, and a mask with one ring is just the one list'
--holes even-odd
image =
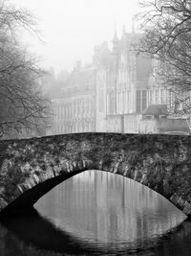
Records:
{"label": "dark shadowy reflection of the bridge curving below the bright water", "polygon": [[32,210],[30,215],[25,215],[25,218],[23,216],[16,216],[14,218],[3,219],[0,223],[0,228],[2,231],[2,244],[7,243],[10,245],[13,239],[16,242],[14,244],[15,249],[17,253],[20,252],[20,255],[23,254],[23,246],[20,246],[20,244],[24,244],[25,255],[31,255],[32,252],[34,252],[33,255],[37,255],[39,254],[39,249],[61,253],[62,255],[94,255],[95,253],[96,255],[128,255],[129,252],[131,255],[132,249],[134,251],[140,251],[141,248],[147,254],[147,248],[148,253],[150,253],[151,248],[154,246],[156,251],[159,251],[161,255],[171,255],[172,247],[174,251],[182,254],[184,243],[180,242],[180,238],[186,237],[186,240],[189,241],[191,234],[190,221],[184,221],[173,232],[164,234],[160,238],[154,237],[147,239],[146,245],[144,240],[140,240],[138,244],[123,243],[123,246],[117,246],[117,248],[110,246],[108,248],[108,246],[103,246],[103,244],[97,246],[97,242],[91,243],[86,241],[84,243],[84,240],[54,226],[51,221],[40,216],[35,210]]}

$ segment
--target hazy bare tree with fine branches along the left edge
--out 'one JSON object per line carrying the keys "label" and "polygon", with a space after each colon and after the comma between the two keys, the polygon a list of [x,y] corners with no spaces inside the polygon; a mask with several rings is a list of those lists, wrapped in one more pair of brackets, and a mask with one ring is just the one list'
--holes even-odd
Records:
{"label": "hazy bare tree with fine branches along the left edge", "polygon": [[22,49],[20,29],[36,33],[35,20],[27,11],[0,1],[0,135],[38,128],[46,118],[47,101],[39,87],[43,71],[35,58]]}

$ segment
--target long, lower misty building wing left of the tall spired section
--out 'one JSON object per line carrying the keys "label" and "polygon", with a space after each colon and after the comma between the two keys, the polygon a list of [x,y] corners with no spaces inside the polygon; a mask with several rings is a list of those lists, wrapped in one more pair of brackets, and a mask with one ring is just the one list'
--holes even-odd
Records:
{"label": "long, lower misty building wing left of the tall spired section", "polygon": [[52,101],[52,125],[48,134],[96,131],[96,71],[79,63]]}

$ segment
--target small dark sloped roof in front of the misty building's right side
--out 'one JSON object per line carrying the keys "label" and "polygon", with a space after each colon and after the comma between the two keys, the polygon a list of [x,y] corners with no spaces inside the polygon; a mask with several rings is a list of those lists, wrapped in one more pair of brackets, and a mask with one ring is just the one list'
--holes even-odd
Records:
{"label": "small dark sloped roof in front of the misty building's right side", "polygon": [[148,105],[143,111],[142,115],[168,115],[167,105]]}

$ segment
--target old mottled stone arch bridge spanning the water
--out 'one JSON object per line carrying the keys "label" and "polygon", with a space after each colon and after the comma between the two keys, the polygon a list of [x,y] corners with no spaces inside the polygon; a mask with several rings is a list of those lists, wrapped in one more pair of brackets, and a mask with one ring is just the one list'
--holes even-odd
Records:
{"label": "old mottled stone arch bridge spanning the water", "polygon": [[20,214],[86,170],[132,178],[191,217],[191,137],[74,133],[0,141],[0,215]]}

